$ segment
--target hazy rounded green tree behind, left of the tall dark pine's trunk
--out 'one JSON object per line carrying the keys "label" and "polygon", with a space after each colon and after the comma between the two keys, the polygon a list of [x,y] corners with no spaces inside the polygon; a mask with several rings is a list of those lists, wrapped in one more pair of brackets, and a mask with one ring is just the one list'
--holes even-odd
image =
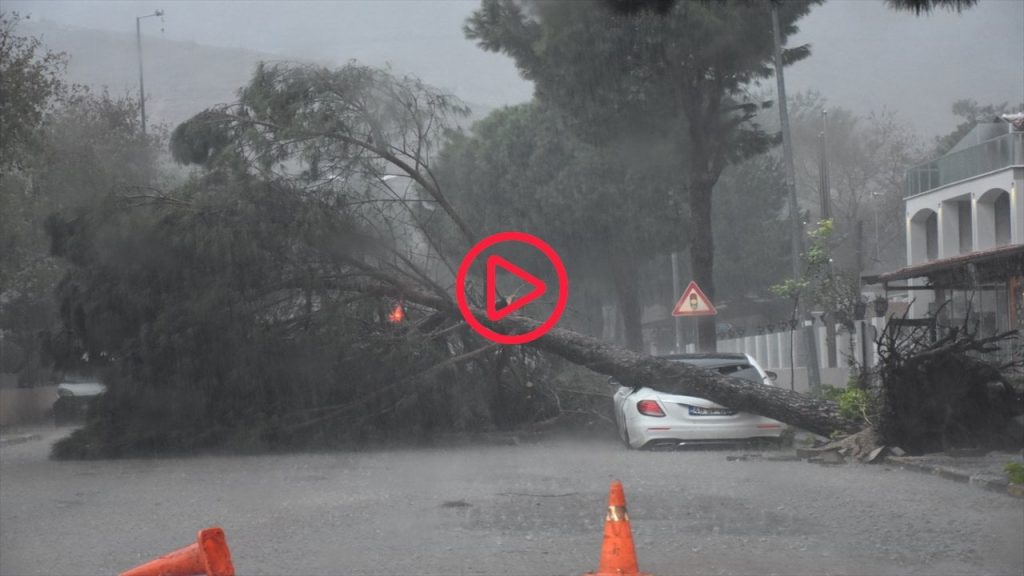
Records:
{"label": "hazy rounded green tree behind, left of the tall dark pine's trunk", "polygon": [[[496,111],[470,134],[453,134],[435,173],[482,234],[537,234],[561,254],[573,278],[584,279],[573,292],[614,294],[633,336],[628,344],[638,348],[639,266],[670,251],[685,221],[667,169],[671,156],[671,146],[657,138],[585,142],[565,129],[557,111],[534,102]],[[456,231],[436,232],[460,257]],[[585,297],[578,294],[574,301]]]}

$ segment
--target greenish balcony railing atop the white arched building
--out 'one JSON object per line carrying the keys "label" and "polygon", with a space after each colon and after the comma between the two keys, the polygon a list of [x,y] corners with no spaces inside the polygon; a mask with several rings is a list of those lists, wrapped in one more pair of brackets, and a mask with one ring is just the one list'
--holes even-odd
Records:
{"label": "greenish balcony railing atop the white arched building", "polygon": [[906,171],[907,197],[1009,166],[1024,166],[1024,132],[1011,132]]}

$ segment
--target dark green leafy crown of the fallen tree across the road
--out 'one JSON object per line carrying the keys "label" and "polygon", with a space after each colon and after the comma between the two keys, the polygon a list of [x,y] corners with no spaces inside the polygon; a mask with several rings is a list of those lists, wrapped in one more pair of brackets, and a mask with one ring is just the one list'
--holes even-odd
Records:
{"label": "dark green leafy crown of the fallen tree across the road", "polygon": [[375,291],[374,270],[422,272],[397,257],[416,213],[386,208],[383,176],[408,161],[429,184],[421,162],[459,110],[383,71],[264,67],[240,102],[175,130],[178,160],[202,165],[184,186],[115,190],[51,218],[70,264],[60,348],[109,384],[54,456],[338,446],[550,417],[551,399],[526,385],[545,362],[480,354],[409,304],[388,323],[396,302]]}

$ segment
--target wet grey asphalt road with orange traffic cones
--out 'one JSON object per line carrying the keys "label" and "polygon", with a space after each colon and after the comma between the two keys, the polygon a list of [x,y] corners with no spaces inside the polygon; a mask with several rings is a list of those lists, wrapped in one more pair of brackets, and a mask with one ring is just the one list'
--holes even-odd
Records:
{"label": "wet grey asphalt road with orange traffic cones", "polygon": [[0,448],[0,574],[113,574],[224,528],[242,576],[570,575],[622,479],[640,568],[1024,574],[1024,499],[885,466],[613,442],[53,462]]}

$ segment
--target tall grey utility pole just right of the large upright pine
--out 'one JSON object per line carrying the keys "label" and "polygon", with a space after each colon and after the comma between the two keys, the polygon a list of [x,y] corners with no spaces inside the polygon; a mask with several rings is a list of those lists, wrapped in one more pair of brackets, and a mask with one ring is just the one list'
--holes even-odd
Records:
{"label": "tall grey utility pole just right of the large upright pine", "polygon": [[[797,176],[793,166],[793,139],[790,135],[790,112],[785,101],[785,77],[782,73],[782,31],[778,25],[778,0],[771,1],[771,28],[775,40],[775,81],[778,85],[778,116],[782,129],[782,161],[785,166],[785,186],[790,192],[790,223],[793,228],[793,278],[799,280],[802,273],[800,255],[803,252],[803,230],[800,223],[800,206],[797,203]],[[814,328],[803,327],[804,317],[804,303],[801,300],[797,321],[801,324],[804,340],[807,344],[807,379],[811,392],[817,392],[821,387],[821,373],[818,369]]]}

